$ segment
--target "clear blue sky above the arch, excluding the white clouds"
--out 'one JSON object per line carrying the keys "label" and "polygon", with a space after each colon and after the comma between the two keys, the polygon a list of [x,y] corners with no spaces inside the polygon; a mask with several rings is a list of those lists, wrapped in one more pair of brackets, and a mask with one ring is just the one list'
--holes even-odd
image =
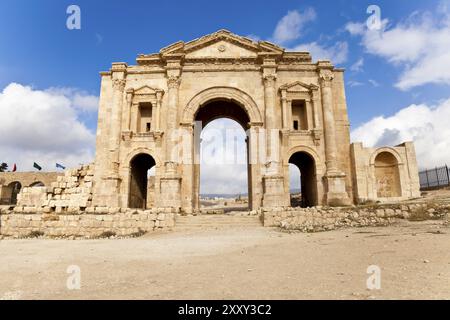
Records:
{"label": "clear blue sky above the arch, excluding the white clouds", "polygon": [[[82,10],[82,29],[68,30],[66,8]],[[125,4],[126,3],[126,4]],[[300,42],[321,37],[326,43],[348,41],[341,66],[350,67],[364,55],[360,39],[343,31],[350,21],[364,21],[373,1],[30,1],[0,3],[0,88],[10,82],[36,88],[74,87],[98,93],[98,72],[113,61],[135,62],[138,53],[157,52],[178,41],[191,40],[225,28],[240,35],[272,36],[289,10],[314,8],[317,19],[305,26]],[[417,10],[434,10],[439,1],[377,1],[382,17],[404,19]],[[299,41],[297,41],[298,43]],[[296,41],[291,43],[296,44]],[[364,73],[348,71],[348,81],[373,79],[380,87],[347,90],[353,126],[378,114],[391,114],[410,103],[445,97],[446,90],[425,86],[413,92],[393,87],[398,69],[376,56],[365,58]],[[380,98],[382,97],[382,103]],[[93,128],[95,123],[89,123]]]}

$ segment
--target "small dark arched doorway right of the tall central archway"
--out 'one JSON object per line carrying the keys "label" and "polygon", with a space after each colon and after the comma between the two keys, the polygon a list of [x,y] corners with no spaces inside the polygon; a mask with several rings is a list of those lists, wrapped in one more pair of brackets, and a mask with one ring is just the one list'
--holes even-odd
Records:
{"label": "small dark arched doorway right of the tall central archway", "polygon": [[[313,207],[317,205],[317,175],[314,158],[307,152],[300,151],[292,154],[289,163],[300,170],[300,194],[292,197],[291,206],[293,207]],[[290,174],[294,168],[290,166]]]}

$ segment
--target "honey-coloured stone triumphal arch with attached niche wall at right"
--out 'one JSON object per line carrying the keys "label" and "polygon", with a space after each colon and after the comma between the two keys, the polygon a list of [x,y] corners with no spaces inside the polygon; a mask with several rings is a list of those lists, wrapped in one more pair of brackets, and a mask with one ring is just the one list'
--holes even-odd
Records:
{"label": "honey-coloured stone triumphal arch with attached niche wall at right", "polygon": [[344,70],[226,30],[177,42],[101,73],[93,205],[199,208],[199,132],[212,120],[247,133],[249,206],[287,207],[289,165],[305,206],[419,196],[414,146],[350,143]]}

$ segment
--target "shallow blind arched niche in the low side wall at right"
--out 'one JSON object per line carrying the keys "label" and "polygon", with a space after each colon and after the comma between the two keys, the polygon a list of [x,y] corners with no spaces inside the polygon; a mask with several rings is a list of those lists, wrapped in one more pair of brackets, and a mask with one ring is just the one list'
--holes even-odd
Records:
{"label": "shallow blind arched niche in the low side wall at right", "polygon": [[375,179],[378,198],[401,197],[398,161],[391,152],[383,151],[376,156]]}

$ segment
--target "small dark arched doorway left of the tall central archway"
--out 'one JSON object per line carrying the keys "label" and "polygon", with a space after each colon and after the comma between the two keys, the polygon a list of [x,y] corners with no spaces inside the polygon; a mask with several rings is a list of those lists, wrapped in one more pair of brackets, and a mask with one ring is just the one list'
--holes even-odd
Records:
{"label": "small dark arched doorway left of the tall central archway", "polygon": [[148,207],[149,177],[154,175],[151,169],[155,165],[156,162],[153,157],[146,153],[140,153],[131,160],[128,197],[129,208],[146,209]]}

